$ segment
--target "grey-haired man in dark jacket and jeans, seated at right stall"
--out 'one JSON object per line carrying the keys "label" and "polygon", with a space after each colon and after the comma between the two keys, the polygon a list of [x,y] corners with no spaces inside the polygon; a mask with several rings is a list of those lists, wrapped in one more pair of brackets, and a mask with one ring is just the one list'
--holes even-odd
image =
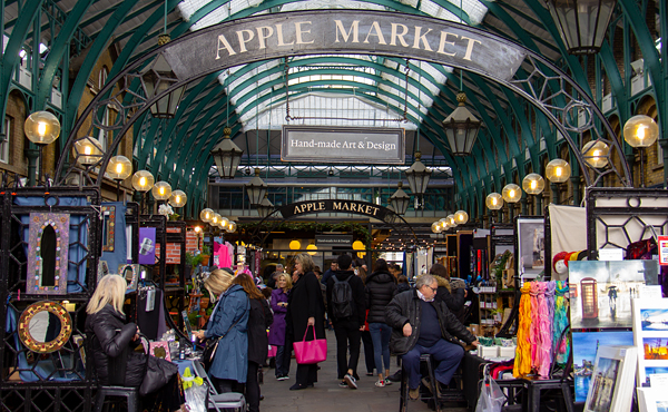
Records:
{"label": "grey-haired man in dark jacket and jeans, seated at right stall", "polygon": [[[409,396],[420,398],[420,355],[429,353],[438,364],[436,381],[448,385],[464,357],[454,336],[478,346],[475,336],[462,325],[442,301],[434,301],[439,283],[422,275],[412,291],[394,296],[385,308],[385,323],[392,326],[390,350],[401,355],[409,374]],[[439,390],[439,383],[435,383]]]}

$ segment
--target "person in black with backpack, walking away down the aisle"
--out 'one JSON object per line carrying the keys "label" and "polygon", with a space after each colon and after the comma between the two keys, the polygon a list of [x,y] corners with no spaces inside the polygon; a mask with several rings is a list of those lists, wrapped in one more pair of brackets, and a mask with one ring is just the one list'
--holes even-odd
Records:
{"label": "person in black with backpack, walking away down the aisle", "polygon": [[[338,271],[327,282],[328,313],[336,335],[336,362],[340,386],[357,389],[357,361],[360,339],[364,328],[364,284],[351,268],[351,255],[343,254],[336,259]],[[350,346],[351,357],[346,360]],[[346,372],[344,375],[344,372]]]}

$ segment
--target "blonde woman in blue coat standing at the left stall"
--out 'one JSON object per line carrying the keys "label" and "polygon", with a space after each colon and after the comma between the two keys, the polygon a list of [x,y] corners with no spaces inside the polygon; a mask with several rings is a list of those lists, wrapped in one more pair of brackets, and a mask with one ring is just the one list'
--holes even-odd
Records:
{"label": "blonde woman in blue coat standing at the left stall", "polygon": [[[199,340],[218,339],[218,350],[208,371],[219,393],[242,392],[248,373],[248,295],[240,285],[233,285],[229,268],[216,269],[204,281],[212,300],[218,303],[212,312],[206,331],[197,331]],[[223,349],[223,350],[220,350]]]}

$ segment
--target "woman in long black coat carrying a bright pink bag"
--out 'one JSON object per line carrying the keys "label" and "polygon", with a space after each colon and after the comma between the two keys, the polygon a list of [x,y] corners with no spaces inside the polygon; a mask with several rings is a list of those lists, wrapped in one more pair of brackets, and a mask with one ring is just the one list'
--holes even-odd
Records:
{"label": "woman in long black coat carrying a bright pink bag", "polygon": [[[325,339],[325,303],[313,273],[314,266],[308,254],[302,253],[295,257],[298,277],[288,295],[286,313],[286,345],[289,346],[304,339],[313,341],[313,330],[316,339]],[[317,364],[297,364],[296,381],[291,391],[313,386],[317,382]]]}

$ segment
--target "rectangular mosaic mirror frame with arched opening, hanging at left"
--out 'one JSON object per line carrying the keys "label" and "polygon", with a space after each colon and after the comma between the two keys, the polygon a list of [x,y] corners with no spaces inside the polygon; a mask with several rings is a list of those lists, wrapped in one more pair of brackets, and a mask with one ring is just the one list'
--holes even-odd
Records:
{"label": "rectangular mosaic mirror frame with arched opening, hanging at left", "polygon": [[[31,213],[28,234],[28,274],[26,293],[31,295],[65,295],[67,293],[67,265],[69,251],[68,214]],[[56,285],[42,286],[41,241],[47,226],[56,232]]]}

